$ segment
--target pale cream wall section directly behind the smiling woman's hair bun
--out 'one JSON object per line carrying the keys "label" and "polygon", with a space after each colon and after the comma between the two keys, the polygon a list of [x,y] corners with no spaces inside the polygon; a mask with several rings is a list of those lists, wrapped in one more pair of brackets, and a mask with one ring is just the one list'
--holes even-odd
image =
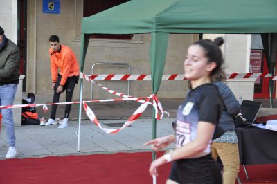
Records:
{"label": "pale cream wall section directly behind the smiling woman's hair bun", "polygon": [[[226,73],[249,73],[251,35],[246,34],[204,34],[204,39],[222,37],[221,47],[224,57],[224,71]],[[236,98],[253,100],[255,80],[227,80],[228,86]]]}

